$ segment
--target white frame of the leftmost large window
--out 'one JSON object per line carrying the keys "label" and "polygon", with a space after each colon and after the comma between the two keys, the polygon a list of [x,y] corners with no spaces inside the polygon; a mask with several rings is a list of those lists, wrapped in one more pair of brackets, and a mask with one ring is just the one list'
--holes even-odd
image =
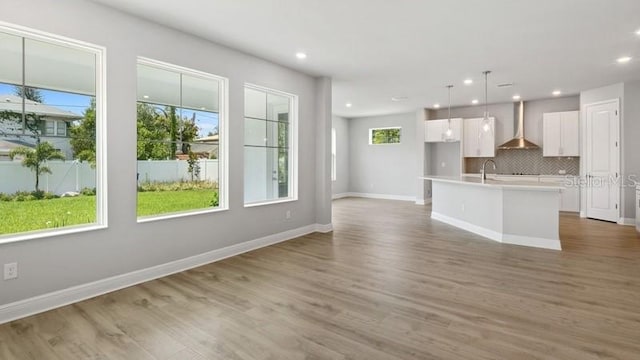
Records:
{"label": "white frame of the leftmost large window", "polygon": [[0,31],[49,44],[67,46],[87,51],[96,58],[96,222],[56,229],[42,229],[26,233],[0,235],[0,244],[63,236],[79,232],[94,231],[108,227],[107,209],[107,49],[84,41],[67,38],[32,28],[0,21]]}

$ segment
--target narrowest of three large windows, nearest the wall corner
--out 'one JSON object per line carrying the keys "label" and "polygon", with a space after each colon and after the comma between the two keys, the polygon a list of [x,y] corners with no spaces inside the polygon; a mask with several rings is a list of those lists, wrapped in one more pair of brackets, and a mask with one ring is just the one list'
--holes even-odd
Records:
{"label": "narrowest of three large windows, nearest the wall corner", "polygon": [[254,85],[244,89],[244,201],[294,200],[297,96]]}

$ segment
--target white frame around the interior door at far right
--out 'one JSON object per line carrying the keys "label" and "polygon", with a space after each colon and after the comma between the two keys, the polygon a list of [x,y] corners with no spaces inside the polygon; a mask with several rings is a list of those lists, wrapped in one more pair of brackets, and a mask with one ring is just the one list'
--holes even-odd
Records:
{"label": "white frame around the interior door at far right", "polygon": [[[582,186],[580,187],[580,217],[587,217],[587,109],[591,106],[604,105],[609,103],[615,103],[618,112],[618,129],[616,131],[618,141],[618,152],[616,169],[618,171],[618,177],[622,180],[622,111],[620,110],[620,98],[612,98],[608,100],[595,101],[592,103],[584,104],[580,109],[580,177],[582,178]],[[622,219],[622,187],[618,184],[618,220],[617,223],[621,224]]]}

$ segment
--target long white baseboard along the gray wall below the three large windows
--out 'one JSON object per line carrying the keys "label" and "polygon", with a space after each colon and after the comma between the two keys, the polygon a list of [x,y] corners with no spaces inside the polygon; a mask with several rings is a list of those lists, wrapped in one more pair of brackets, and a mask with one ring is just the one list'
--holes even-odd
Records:
{"label": "long white baseboard along the gray wall below the three large windows", "polygon": [[329,232],[331,224],[311,224],[301,228],[287,230],[278,234],[268,235],[259,239],[212,250],[203,254],[172,261],[166,264],[136,270],[127,274],[73,286],[48,294],[0,305],[0,324],[34,315],[61,306],[90,299],[112,291],[123,289],[157,278],[165,277],[194,267],[226,259],[248,251],[256,250],[279,242],[291,240],[313,232]]}

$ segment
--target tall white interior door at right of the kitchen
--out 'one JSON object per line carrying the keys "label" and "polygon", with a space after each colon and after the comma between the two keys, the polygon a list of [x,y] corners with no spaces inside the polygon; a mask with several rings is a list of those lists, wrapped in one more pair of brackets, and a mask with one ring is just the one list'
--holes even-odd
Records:
{"label": "tall white interior door at right of the kitchen", "polygon": [[617,222],[620,217],[620,118],[618,100],[590,104],[586,116],[587,217]]}

